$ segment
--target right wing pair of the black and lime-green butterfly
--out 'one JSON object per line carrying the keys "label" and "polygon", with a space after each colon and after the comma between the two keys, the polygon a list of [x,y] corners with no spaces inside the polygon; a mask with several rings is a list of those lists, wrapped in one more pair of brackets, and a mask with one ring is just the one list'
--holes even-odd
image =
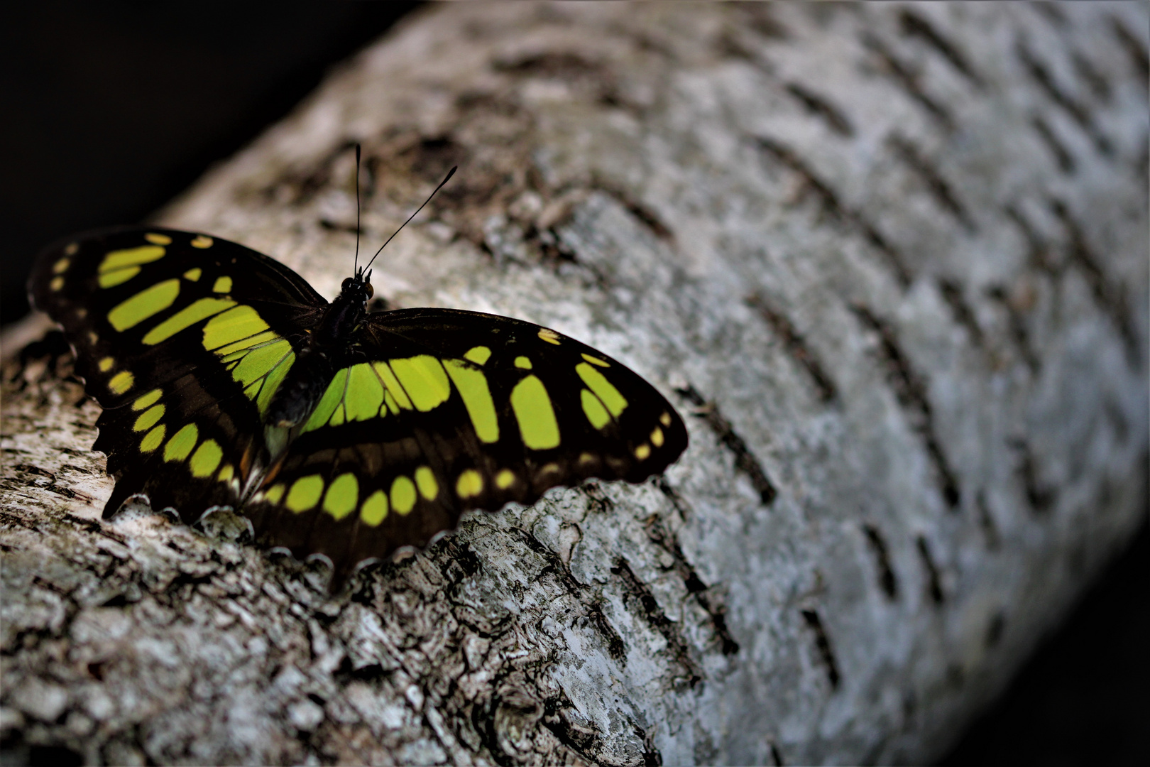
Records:
{"label": "right wing pair of the black and lime-green butterfly", "polygon": [[465,509],[588,477],[639,482],[687,447],[651,384],[539,325],[401,309],[369,315],[356,342],[246,507],[258,535],[328,555],[337,581]]}

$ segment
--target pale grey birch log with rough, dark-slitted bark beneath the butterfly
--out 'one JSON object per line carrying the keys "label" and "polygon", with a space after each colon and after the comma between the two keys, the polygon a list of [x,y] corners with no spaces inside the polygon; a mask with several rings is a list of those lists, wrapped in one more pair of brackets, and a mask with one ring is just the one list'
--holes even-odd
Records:
{"label": "pale grey birch log with rough, dark-slitted bark beneath the butterfly", "polygon": [[[925,761],[1145,517],[1147,6],[434,7],[160,216],[689,414],[329,599],[8,366],[0,726],[90,762]],[[12,351],[12,350],[8,350]]]}

